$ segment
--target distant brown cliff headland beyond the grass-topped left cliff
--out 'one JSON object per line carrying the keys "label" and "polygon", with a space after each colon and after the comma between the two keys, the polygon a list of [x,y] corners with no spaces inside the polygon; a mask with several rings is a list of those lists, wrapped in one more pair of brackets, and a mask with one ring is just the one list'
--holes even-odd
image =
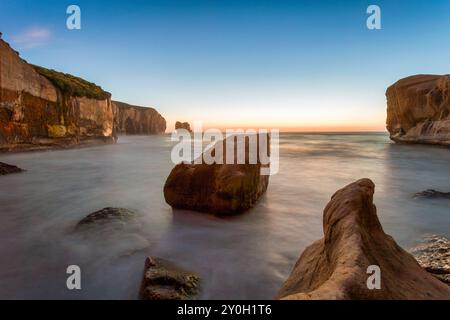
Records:
{"label": "distant brown cliff headland beyond the grass-topped left cliff", "polygon": [[118,134],[161,134],[166,120],[153,108],[113,101],[115,130]]}

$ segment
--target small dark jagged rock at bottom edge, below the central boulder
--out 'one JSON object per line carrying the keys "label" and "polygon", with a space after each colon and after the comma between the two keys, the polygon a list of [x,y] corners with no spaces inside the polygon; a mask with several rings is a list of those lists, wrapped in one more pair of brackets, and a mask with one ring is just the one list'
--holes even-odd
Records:
{"label": "small dark jagged rock at bottom edge, below the central boulder", "polygon": [[170,261],[148,257],[139,296],[143,300],[185,300],[198,293],[199,282],[196,274]]}

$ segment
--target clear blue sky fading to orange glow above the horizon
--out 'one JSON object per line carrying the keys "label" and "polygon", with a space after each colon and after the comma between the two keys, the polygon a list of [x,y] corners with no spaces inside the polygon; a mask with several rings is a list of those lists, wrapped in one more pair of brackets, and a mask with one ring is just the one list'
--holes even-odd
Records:
{"label": "clear blue sky fading to orange glow above the horizon", "polygon": [[450,73],[448,0],[1,0],[0,32],[30,63],[155,107],[169,131],[384,131],[389,85]]}

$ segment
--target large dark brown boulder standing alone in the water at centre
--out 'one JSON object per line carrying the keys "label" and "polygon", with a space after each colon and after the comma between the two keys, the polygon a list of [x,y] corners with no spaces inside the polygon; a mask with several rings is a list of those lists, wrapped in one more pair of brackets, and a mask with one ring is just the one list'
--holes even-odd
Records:
{"label": "large dark brown boulder standing alone in the water at centre", "polygon": [[[229,137],[231,139],[234,137]],[[223,150],[226,150],[226,140]],[[259,143],[259,142],[258,142]],[[269,144],[269,140],[267,140]],[[267,146],[269,150],[270,145]],[[248,139],[245,147],[245,164],[180,163],[173,168],[164,185],[166,202],[176,209],[195,210],[217,215],[241,213],[252,208],[267,190],[269,175],[262,175],[264,165],[259,161],[250,164]],[[259,153],[259,148],[258,148]]]}

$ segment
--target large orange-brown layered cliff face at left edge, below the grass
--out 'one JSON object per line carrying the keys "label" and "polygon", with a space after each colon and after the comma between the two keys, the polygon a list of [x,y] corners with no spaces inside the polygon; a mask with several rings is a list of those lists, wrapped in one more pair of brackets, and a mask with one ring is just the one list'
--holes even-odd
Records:
{"label": "large orange-brown layered cliff face at left edge, below the grass", "polygon": [[114,140],[109,93],[96,99],[63,92],[1,39],[0,58],[0,151]]}

